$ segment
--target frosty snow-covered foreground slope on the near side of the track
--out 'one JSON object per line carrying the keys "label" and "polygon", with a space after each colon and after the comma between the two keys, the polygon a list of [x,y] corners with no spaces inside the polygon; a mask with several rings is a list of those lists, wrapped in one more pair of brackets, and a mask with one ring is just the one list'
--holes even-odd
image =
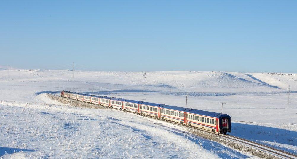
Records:
{"label": "frosty snow-covered foreground slope on the near side of the track", "polygon": [[[55,102],[44,95],[38,96],[49,103]],[[4,158],[16,155],[15,151],[22,151],[20,154],[26,157],[41,158],[248,157],[127,112],[67,105],[3,104],[6,105],[0,105],[0,155]]]}

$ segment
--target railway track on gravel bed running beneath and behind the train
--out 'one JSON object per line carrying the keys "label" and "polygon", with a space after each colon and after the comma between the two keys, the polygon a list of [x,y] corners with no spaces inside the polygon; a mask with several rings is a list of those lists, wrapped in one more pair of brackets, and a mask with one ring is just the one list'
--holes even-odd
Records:
{"label": "railway track on gravel bed running beneath and behind the train", "polygon": [[[57,97],[61,97],[61,96],[55,95],[53,93],[48,93],[48,94],[54,95],[54,96],[57,96]],[[69,98],[63,98],[63,99],[68,99],[68,100],[74,101],[73,99],[69,99]],[[80,102],[83,102],[83,101],[80,101]],[[97,105],[97,104],[94,104],[94,105]],[[97,105],[97,106],[100,106],[100,105]],[[107,106],[101,106],[101,107],[109,108]],[[110,108],[110,109],[114,109],[114,108]],[[123,111],[123,110],[119,110],[119,109],[114,109],[114,110]],[[137,114],[137,113],[130,112],[130,111],[126,111],[126,112],[129,112],[129,113],[132,113],[132,114]],[[143,115],[143,116],[144,117],[148,117],[148,118],[152,118],[152,119],[157,119],[156,117],[150,117],[150,116],[147,116],[147,115]],[[162,119],[159,119],[159,120],[162,120]],[[244,145],[247,145],[249,147],[260,149],[261,151],[268,152],[268,153],[270,153],[272,155],[275,155],[275,156],[278,156],[278,157],[281,157],[281,158],[288,158],[288,159],[296,159],[297,158],[297,155],[296,154],[292,154],[292,153],[286,152],[284,150],[276,149],[274,147],[270,147],[270,146],[267,146],[267,145],[264,145],[264,144],[260,144],[260,143],[254,142],[254,141],[250,141],[250,140],[247,140],[247,139],[244,139],[244,138],[239,138],[239,137],[228,135],[228,134],[227,135],[214,134],[211,131],[203,130],[203,129],[200,129],[200,128],[197,128],[197,127],[191,127],[191,126],[183,125],[183,124],[180,124],[180,123],[177,123],[177,122],[173,122],[173,121],[169,121],[169,120],[164,120],[164,121],[169,122],[169,123],[172,123],[172,124],[184,126],[184,127],[187,127],[187,128],[191,128],[191,129],[203,131],[203,132],[206,132],[206,133],[211,133],[212,135],[216,135],[216,136],[219,136],[219,137],[222,137],[222,138],[226,138],[226,139],[228,139],[230,141],[234,141],[234,142],[237,142],[237,143],[240,143],[240,144],[244,144]]]}

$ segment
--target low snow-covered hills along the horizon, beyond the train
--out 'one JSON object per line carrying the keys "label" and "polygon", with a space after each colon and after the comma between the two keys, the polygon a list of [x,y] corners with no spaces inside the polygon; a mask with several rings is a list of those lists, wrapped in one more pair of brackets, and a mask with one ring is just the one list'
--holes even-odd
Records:
{"label": "low snow-covered hills along the horizon, beyond the train", "polygon": [[[89,72],[71,70],[7,70],[0,71],[0,79],[6,82],[89,82],[89,89],[103,89],[102,84],[128,85],[130,89],[142,89],[143,73],[140,72]],[[279,92],[297,90],[296,74],[234,73],[169,71],[147,72],[146,89],[176,92]],[[62,87],[67,87],[64,84]],[[88,86],[89,85],[89,86]],[[71,87],[71,86],[69,86]],[[125,86],[117,89],[129,89]]]}

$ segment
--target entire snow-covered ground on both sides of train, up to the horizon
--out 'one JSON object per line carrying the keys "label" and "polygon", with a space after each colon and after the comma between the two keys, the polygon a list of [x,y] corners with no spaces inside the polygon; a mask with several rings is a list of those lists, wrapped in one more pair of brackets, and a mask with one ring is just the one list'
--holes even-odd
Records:
{"label": "entire snow-covered ground on both sides of train, up to the horizon", "polygon": [[[71,108],[43,93],[60,90],[221,111],[232,135],[297,152],[297,74],[0,70],[0,157],[247,158],[178,127],[113,110]],[[291,106],[287,105],[287,86]],[[62,106],[63,105],[63,106]],[[22,150],[22,152],[18,152]],[[5,152],[7,154],[5,154]],[[18,153],[14,153],[18,152]]]}

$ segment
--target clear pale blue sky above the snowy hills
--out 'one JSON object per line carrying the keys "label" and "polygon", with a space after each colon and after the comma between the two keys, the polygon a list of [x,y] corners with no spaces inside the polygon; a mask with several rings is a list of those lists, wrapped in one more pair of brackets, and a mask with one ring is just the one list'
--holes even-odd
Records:
{"label": "clear pale blue sky above the snowy hills", "polygon": [[0,65],[297,73],[297,1],[2,1]]}

